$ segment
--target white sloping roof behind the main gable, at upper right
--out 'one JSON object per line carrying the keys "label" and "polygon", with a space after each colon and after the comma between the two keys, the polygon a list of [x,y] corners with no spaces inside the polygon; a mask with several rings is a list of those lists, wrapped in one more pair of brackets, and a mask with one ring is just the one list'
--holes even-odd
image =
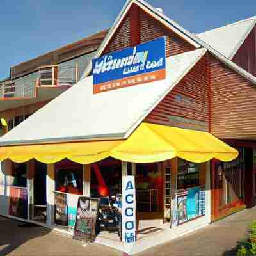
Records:
{"label": "white sloping roof behind the main gable, at upper right", "polygon": [[256,17],[197,34],[206,44],[231,60],[255,26]]}

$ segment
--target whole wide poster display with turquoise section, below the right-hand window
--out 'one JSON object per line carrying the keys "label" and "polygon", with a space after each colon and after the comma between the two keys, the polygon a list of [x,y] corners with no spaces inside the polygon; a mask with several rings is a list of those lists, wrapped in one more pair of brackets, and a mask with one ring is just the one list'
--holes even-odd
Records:
{"label": "whole wide poster display with turquoise section, below the right-hand window", "polygon": [[205,215],[205,190],[193,187],[177,193],[173,207],[172,225],[180,225]]}

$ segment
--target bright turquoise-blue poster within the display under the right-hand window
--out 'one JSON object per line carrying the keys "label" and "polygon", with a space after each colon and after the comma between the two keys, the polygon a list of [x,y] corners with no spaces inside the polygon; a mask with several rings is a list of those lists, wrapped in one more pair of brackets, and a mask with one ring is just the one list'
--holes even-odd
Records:
{"label": "bright turquoise-blue poster within the display under the right-hand window", "polygon": [[189,188],[187,195],[187,215],[188,220],[199,216],[199,192],[200,188]]}

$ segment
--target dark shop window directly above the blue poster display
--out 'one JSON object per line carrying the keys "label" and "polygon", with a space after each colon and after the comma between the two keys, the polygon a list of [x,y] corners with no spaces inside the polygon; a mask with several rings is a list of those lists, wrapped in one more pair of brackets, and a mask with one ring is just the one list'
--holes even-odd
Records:
{"label": "dark shop window directly above the blue poster display", "polygon": [[184,159],[178,160],[178,189],[199,185],[200,164],[190,163]]}

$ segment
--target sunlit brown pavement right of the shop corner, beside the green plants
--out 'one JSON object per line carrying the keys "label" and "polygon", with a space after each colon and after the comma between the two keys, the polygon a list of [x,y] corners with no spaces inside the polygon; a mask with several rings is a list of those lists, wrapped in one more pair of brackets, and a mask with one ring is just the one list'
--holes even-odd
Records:
{"label": "sunlit brown pavement right of the shop corner, beside the green plants", "polygon": [[252,220],[256,220],[256,207],[237,212],[200,230],[137,255],[235,256],[236,242],[246,237],[246,228]]}

